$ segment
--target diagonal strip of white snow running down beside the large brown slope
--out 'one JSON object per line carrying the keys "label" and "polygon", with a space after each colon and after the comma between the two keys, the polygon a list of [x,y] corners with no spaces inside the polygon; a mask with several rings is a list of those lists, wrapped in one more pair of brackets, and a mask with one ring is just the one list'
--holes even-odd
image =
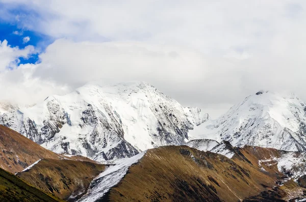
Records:
{"label": "diagonal strip of white snow running down beside the large brown slope", "polygon": [[94,202],[101,199],[101,197],[103,197],[103,195],[107,193],[110,188],[120,182],[120,180],[126,175],[129,167],[137,163],[144,156],[144,154],[145,152],[142,152],[128,159],[120,159],[116,165],[108,167],[91,182],[87,193],[78,201]]}

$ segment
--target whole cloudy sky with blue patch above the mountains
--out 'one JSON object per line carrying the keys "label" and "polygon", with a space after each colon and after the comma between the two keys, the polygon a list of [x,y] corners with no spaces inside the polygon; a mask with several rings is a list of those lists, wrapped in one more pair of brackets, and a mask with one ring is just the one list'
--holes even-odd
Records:
{"label": "whole cloudy sky with blue patch above the mountains", "polygon": [[0,100],[141,80],[217,118],[259,90],[306,100],[306,1],[0,0]]}

